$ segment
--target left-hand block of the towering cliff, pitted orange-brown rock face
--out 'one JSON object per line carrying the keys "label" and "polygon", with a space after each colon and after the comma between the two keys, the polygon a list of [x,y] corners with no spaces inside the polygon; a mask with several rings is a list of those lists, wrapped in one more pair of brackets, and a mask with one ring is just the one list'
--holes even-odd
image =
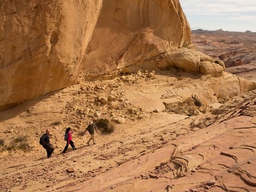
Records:
{"label": "left-hand block of the towering cliff, pitted orange-brown rock face", "polygon": [[3,0],[0,109],[77,82],[102,0]]}

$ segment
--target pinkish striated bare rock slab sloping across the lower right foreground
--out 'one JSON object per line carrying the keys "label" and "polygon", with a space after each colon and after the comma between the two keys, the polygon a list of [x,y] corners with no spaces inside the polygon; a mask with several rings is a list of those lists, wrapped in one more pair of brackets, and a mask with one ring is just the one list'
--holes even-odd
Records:
{"label": "pinkish striated bare rock slab sloping across the lower right foreground", "polygon": [[255,191],[255,91],[243,97],[206,128],[58,191]]}

